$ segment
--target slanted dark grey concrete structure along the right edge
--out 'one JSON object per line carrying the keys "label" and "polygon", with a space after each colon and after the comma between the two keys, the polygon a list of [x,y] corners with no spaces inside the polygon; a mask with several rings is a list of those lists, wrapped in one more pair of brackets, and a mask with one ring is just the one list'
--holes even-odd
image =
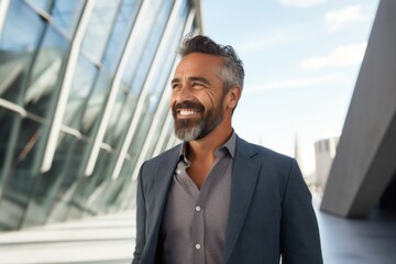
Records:
{"label": "slanted dark grey concrete structure along the right edge", "polygon": [[320,208],[341,217],[396,211],[395,11],[380,2],[326,184]]}

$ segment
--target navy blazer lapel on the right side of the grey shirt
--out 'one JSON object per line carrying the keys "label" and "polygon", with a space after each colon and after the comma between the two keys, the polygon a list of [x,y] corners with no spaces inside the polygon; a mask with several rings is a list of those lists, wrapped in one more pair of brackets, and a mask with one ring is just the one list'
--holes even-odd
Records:
{"label": "navy blazer lapel on the right side of the grey shirt", "polygon": [[254,193],[261,168],[258,163],[252,162],[255,155],[256,151],[248,142],[238,138],[226,230],[224,263],[228,262],[237,243]]}

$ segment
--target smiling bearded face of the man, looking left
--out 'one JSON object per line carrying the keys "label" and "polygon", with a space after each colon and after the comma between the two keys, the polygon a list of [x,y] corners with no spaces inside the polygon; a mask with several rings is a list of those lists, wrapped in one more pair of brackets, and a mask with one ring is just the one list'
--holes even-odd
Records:
{"label": "smiling bearded face of the man, looking left", "polygon": [[221,123],[224,100],[221,66],[221,57],[202,53],[185,56],[177,66],[170,109],[180,140],[200,140]]}

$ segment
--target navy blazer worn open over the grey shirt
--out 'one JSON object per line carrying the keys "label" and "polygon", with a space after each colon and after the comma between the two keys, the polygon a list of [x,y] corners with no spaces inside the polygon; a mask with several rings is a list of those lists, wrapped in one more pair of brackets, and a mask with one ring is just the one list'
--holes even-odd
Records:
{"label": "navy blazer worn open over the grey shirt", "polygon": [[[180,146],[145,162],[138,179],[133,264],[154,264]],[[237,138],[223,263],[321,264],[311,195],[295,160]]]}

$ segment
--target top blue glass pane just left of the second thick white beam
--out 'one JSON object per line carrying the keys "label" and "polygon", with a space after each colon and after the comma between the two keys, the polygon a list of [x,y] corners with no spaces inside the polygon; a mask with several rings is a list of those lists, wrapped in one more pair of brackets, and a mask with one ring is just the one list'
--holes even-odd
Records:
{"label": "top blue glass pane just left of the second thick white beam", "polygon": [[120,12],[116,19],[116,25],[109,40],[109,46],[107,48],[103,66],[111,74],[116,72],[117,65],[120,62],[124,45],[129,37],[128,32],[131,31],[142,0],[124,0],[120,6]]}

